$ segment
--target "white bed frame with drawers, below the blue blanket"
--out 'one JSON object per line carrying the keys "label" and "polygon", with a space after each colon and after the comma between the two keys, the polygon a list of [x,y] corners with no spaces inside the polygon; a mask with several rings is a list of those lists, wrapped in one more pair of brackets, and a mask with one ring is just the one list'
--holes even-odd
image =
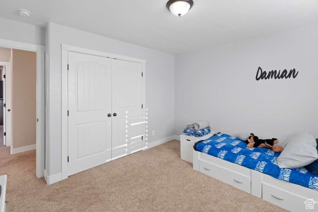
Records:
{"label": "white bed frame with drawers, below the blue blanket", "polygon": [[290,211],[308,212],[311,201],[314,209],[309,211],[318,210],[318,191],[195,150],[193,169]]}

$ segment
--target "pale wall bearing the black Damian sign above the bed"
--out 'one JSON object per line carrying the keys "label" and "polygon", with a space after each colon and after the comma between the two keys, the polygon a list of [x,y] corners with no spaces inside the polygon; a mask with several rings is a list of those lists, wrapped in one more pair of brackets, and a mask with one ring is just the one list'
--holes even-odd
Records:
{"label": "pale wall bearing the black Damian sign above the bed", "polygon": [[[208,120],[216,132],[318,138],[318,25],[175,56],[175,134]],[[235,36],[235,35],[233,35]],[[213,39],[213,38],[211,38]],[[255,79],[296,69],[295,79]]]}

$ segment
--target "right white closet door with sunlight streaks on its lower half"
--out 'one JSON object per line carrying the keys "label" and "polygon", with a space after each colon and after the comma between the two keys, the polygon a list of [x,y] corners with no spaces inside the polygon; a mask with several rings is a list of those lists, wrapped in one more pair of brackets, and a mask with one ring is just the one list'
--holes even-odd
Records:
{"label": "right white closet door with sunlight streaks on its lower half", "polygon": [[113,59],[112,79],[112,160],[115,160],[142,150],[142,64]]}

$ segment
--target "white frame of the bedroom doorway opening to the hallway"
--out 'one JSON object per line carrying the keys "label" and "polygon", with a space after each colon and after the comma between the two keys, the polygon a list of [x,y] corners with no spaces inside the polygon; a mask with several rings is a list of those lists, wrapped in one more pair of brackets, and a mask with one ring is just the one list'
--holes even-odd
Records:
{"label": "white frame of the bedroom doorway opening to the hallway", "polygon": [[[45,46],[0,39],[0,46],[9,49],[33,51],[37,54],[37,120],[36,121],[36,176],[44,177],[45,166]],[[12,64],[11,64],[12,65]],[[12,72],[11,72],[12,75]],[[12,79],[12,78],[11,78]],[[12,92],[11,92],[12,97]],[[12,100],[12,98],[11,98]],[[11,116],[12,123],[12,116]],[[12,133],[12,129],[11,129]],[[12,138],[12,136],[11,136]],[[12,145],[12,142],[11,142]]]}

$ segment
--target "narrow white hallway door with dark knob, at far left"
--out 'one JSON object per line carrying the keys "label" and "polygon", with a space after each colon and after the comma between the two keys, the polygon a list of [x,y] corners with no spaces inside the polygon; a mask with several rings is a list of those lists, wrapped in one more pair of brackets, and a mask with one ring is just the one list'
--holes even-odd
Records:
{"label": "narrow white hallway door with dark knob, at far left", "polygon": [[[11,66],[5,66],[5,98],[3,98],[3,104],[5,103],[5,107],[3,107],[3,132],[5,132],[6,146],[11,146]],[[4,114],[5,113],[5,114]],[[5,117],[5,120],[4,120]],[[5,129],[4,129],[5,122]]]}

